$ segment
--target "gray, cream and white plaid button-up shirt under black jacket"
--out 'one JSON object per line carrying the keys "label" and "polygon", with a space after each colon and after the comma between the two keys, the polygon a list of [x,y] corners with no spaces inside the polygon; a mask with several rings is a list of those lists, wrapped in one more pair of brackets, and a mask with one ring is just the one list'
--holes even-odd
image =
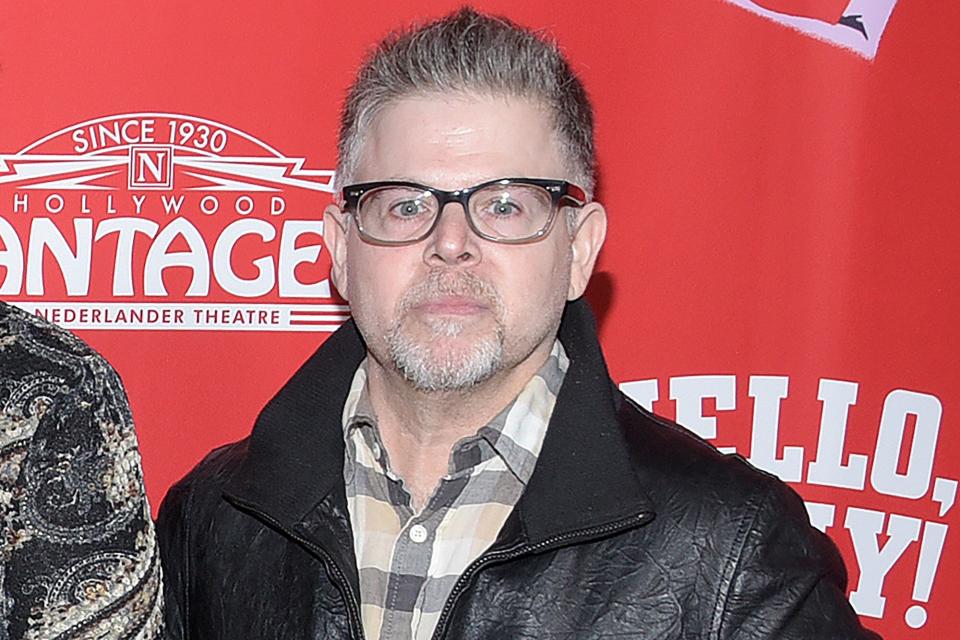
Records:
{"label": "gray, cream and white plaid button-up shirt under black jacket", "polygon": [[390,469],[366,363],[357,369],[343,410],[343,473],[367,638],[430,638],[454,583],[496,540],[529,481],[568,364],[558,340],[517,398],[454,446],[420,513]]}

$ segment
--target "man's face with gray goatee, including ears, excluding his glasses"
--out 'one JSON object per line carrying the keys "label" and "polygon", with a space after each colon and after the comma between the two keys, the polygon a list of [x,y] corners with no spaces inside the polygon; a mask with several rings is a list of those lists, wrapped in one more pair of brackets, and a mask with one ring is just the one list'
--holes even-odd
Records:
{"label": "man's face with gray goatee, including ears, excluding his glasses", "polygon": [[[537,104],[427,95],[380,113],[366,132],[352,181],[406,180],[456,190],[496,178],[568,174],[550,119]],[[571,244],[563,211],[546,237],[505,245],[474,234],[463,208],[448,204],[429,237],[399,247],[366,243],[352,219],[336,207],[328,212],[340,222],[331,229],[335,223],[327,221],[334,279],[368,350],[426,391],[468,388],[542,361],[564,302],[583,292],[599,248],[595,242],[589,264],[582,264],[579,253],[589,251]]]}

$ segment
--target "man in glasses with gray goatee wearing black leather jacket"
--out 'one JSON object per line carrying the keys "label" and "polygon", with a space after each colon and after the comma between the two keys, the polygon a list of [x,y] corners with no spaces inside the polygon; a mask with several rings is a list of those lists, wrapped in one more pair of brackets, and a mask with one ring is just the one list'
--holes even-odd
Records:
{"label": "man in glasses with gray goatee wearing black leather jacket", "polygon": [[468,9],[380,45],[325,214],[354,321],[171,489],[175,637],[869,637],[795,494],[610,381],[593,168],[554,45]]}

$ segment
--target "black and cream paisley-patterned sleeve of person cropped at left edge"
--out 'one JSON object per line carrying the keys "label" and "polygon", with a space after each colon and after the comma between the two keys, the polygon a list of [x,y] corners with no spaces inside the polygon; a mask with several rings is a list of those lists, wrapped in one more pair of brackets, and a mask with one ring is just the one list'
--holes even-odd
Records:
{"label": "black and cream paisley-patterned sleeve of person cropped at left edge", "polygon": [[0,640],[162,635],[157,544],[116,372],[0,303]]}

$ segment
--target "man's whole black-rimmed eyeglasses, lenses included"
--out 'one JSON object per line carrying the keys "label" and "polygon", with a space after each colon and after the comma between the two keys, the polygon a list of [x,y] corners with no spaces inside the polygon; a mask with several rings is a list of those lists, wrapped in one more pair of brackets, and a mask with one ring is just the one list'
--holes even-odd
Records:
{"label": "man's whole black-rimmed eyeglasses, lenses included", "polygon": [[540,178],[501,178],[456,191],[416,182],[364,182],[344,187],[340,197],[360,236],[383,245],[420,242],[451,202],[463,207],[475,234],[503,244],[533,242],[550,231],[562,206],[586,204],[580,187]]}

